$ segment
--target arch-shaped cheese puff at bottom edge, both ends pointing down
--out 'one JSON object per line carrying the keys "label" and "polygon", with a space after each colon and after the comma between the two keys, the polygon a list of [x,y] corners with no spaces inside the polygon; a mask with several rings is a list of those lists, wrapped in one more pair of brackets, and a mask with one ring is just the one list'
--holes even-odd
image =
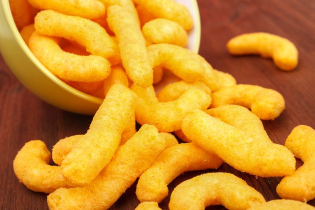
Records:
{"label": "arch-shaped cheese puff at bottom edge, both ends pointing down", "polygon": [[169,210],[204,210],[223,205],[228,210],[247,210],[265,203],[264,197],[229,173],[208,173],[179,184],[170,196]]}

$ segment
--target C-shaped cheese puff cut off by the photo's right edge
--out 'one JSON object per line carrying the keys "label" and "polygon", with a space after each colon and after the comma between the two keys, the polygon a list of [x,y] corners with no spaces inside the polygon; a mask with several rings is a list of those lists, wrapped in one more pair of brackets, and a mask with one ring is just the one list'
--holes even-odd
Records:
{"label": "C-shaped cheese puff cut off by the photo's right edge", "polygon": [[277,186],[283,199],[307,202],[315,199],[315,130],[306,125],[293,129],[285,146],[304,164]]}

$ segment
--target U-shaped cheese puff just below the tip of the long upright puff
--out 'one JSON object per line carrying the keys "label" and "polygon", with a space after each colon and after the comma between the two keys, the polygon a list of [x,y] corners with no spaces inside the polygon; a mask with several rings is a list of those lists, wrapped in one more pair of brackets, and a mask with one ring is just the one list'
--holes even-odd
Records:
{"label": "U-shaped cheese puff just below the tip of the long upright puff", "polygon": [[182,119],[193,109],[205,110],[211,103],[211,97],[202,90],[192,88],[185,91],[178,99],[159,102],[153,86],[131,87],[139,96],[136,107],[136,120],[139,124],[150,124],[159,132],[173,132],[180,129]]}

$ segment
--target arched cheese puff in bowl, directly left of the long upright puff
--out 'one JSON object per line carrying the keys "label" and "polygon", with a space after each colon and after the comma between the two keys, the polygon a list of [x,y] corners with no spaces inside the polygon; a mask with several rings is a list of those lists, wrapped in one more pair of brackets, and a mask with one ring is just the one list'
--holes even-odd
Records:
{"label": "arched cheese puff in bowl, directly left of the long upright puff", "polygon": [[40,34],[76,41],[92,55],[102,56],[113,65],[120,62],[117,44],[102,26],[92,20],[43,10],[36,15],[34,26]]}

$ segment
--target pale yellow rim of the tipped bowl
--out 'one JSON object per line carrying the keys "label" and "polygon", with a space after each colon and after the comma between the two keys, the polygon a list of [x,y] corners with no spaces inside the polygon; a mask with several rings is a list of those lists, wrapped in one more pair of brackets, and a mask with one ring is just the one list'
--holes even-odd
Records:
{"label": "pale yellow rim of the tipped bowl", "polygon": [[[27,44],[24,42],[22,36],[20,35],[15,22],[13,20],[12,12],[10,9],[9,5],[9,0],[2,0],[2,5],[3,5],[3,12],[4,16],[6,18],[6,21],[9,25],[9,28],[13,34],[13,37],[15,41],[18,43],[22,51],[25,53],[25,55],[30,59],[30,61],[38,68],[41,73],[43,73],[45,76],[47,76],[51,81],[53,81],[57,86],[61,87],[65,91],[70,92],[71,94],[82,98],[84,100],[87,100],[92,103],[96,104],[102,104],[103,99],[98,98],[89,94],[86,94],[84,92],[81,92],[61,79],[59,79],[57,76],[52,74],[36,57],[35,55],[31,52]],[[195,22],[194,22],[194,30],[195,30],[195,40],[194,40],[194,46],[193,46],[193,52],[198,53],[199,51],[199,46],[200,46],[200,38],[201,38],[201,22],[200,22],[200,13],[199,13],[199,8],[198,8],[198,3],[197,0],[192,0],[192,6],[194,13],[192,14],[194,16]]]}

